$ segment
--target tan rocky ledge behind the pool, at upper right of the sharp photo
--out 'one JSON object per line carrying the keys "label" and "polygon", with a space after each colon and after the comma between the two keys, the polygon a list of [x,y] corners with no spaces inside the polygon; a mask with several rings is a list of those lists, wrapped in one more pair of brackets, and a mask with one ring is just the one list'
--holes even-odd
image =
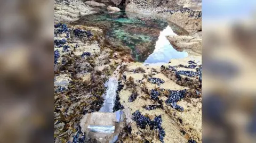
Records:
{"label": "tan rocky ledge behind the pool, at upper right of the sharp photo", "polygon": [[[125,11],[134,13],[146,13],[159,17],[166,18],[172,23],[177,24],[179,27],[188,31],[189,35],[194,35],[202,31],[202,11],[201,8],[194,10],[193,6],[182,7],[177,3],[172,4],[174,6],[154,6],[154,4],[139,4],[131,2],[126,5]],[[198,5],[201,5],[198,2]],[[188,8],[190,7],[190,8]]]}

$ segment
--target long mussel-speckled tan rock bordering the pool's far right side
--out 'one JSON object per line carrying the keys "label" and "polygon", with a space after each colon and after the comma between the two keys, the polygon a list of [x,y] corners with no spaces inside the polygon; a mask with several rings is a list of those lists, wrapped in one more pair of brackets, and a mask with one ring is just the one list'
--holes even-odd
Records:
{"label": "long mussel-speckled tan rock bordering the pool's far right side", "polygon": [[161,1],[131,0],[125,11],[167,18],[168,21],[186,30],[189,35],[193,35],[202,31],[201,5],[200,0],[169,1],[167,4]]}

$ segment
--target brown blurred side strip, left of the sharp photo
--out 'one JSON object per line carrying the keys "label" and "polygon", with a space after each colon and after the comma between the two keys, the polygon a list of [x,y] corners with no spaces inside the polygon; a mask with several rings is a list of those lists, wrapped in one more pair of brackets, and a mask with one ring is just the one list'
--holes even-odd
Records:
{"label": "brown blurred side strip, left of the sharp photo", "polygon": [[0,142],[53,142],[54,1],[0,1]]}

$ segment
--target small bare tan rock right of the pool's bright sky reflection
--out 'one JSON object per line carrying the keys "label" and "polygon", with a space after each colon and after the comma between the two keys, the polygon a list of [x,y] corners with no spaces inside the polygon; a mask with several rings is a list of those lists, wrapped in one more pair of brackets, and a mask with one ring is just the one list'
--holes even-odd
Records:
{"label": "small bare tan rock right of the pool's bright sky reflection", "polygon": [[202,55],[202,39],[191,36],[168,36],[173,48],[177,51],[186,51],[193,55]]}

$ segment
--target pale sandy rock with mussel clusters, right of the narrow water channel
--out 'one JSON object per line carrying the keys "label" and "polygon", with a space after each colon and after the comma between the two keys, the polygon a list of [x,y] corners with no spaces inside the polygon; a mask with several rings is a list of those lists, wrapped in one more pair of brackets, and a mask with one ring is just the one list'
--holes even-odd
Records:
{"label": "pale sandy rock with mussel clusters, right of the narrow water channel", "polygon": [[[202,64],[200,56],[189,56],[182,59],[171,60],[169,64],[165,64],[164,66],[188,66],[191,64],[189,61],[194,61],[198,67]],[[177,68],[177,71],[182,70],[197,72],[196,69]],[[139,111],[143,116],[149,117],[150,120],[161,115],[161,127],[165,131],[164,142],[185,143],[188,142],[189,139],[202,142],[202,99],[199,97],[201,95],[197,95],[196,92],[194,92],[194,90],[202,91],[202,89],[192,89],[192,87],[186,84],[180,85],[180,82],[170,78],[171,76],[169,76],[169,74],[170,73],[166,72],[161,66],[143,65],[141,63],[127,64],[126,71],[123,72],[122,78],[124,88],[119,92],[119,97],[120,103],[124,106],[123,111],[127,115],[126,122],[131,124],[131,135],[128,138],[121,138],[123,142],[129,142],[131,138],[134,142],[142,140],[161,142],[159,141],[158,134],[154,132],[154,130],[148,128],[141,129],[138,123],[134,121],[133,113],[136,111]],[[151,81],[148,80],[150,78],[161,79],[164,82],[157,85],[150,83]],[[181,80],[184,81],[184,83],[186,82],[183,78]],[[131,86],[130,81],[134,82],[136,86]],[[199,83],[196,78],[194,82]],[[152,98],[150,93],[152,90],[161,92],[158,98],[162,100],[162,102]],[[183,107],[182,112],[167,105],[166,101],[169,97],[164,95],[169,94],[169,92],[166,90],[170,92],[177,90],[187,91],[188,95],[186,99],[184,98],[177,102],[178,105]],[[130,101],[132,92],[134,91],[136,91],[138,96]]]}

